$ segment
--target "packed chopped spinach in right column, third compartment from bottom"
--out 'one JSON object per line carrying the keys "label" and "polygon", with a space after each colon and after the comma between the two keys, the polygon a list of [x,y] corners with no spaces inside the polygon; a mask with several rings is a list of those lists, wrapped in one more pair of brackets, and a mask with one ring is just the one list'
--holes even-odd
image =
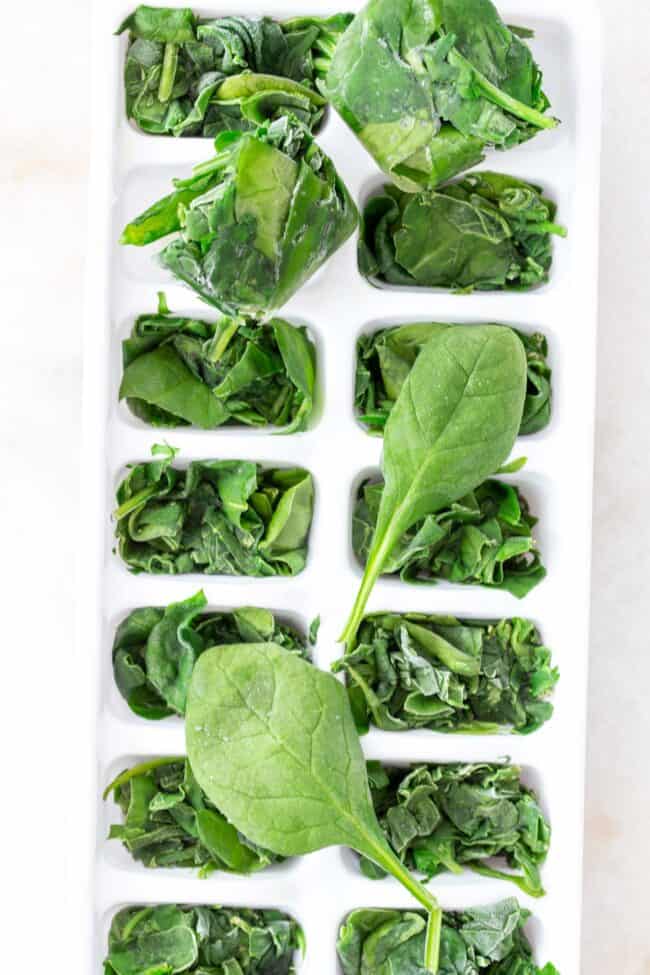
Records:
{"label": "packed chopped spinach in right column, third compartment from bottom", "polygon": [[535,624],[423,613],[366,616],[334,665],[357,728],[528,734],[553,713],[559,674]]}

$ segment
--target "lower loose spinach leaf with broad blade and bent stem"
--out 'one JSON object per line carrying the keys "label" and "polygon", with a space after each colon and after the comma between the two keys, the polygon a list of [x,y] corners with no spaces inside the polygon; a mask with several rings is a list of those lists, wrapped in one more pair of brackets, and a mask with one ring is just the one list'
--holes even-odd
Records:
{"label": "lower loose spinach leaf with broad blade and bent stem", "polygon": [[383,836],[335,677],[272,643],[213,647],[194,668],[185,733],[201,788],[254,843],[281,856],[350,846],[396,877],[429,911],[437,971],[440,910]]}

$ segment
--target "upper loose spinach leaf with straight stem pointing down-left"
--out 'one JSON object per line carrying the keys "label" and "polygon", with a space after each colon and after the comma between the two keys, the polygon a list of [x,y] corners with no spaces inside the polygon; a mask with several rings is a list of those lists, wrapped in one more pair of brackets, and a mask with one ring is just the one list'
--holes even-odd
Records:
{"label": "upper loose spinach leaf with straight stem pointing down-left", "polygon": [[507,458],[525,392],[526,356],[511,329],[452,325],[429,338],[386,423],[384,488],[342,640],[354,636],[404,533],[467,495]]}

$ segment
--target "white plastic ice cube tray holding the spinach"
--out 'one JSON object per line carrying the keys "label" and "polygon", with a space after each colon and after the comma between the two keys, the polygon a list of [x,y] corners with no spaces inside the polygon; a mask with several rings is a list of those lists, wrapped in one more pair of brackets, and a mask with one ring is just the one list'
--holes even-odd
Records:
{"label": "white plastic ice cube tray holding the spinach", "polygon": [[[342,4],[356,9],[359,0]],[[527,294],[455,296],[425,289],[377,289],[357,271],[356,235],[282,310],[309,326],[318,352],[320,418],[290,437],[224,429],[152,431],[117,402],[120,343],[133,318],[152,311],[164,289],[174,312],[210,317],[213,312],[172,282],[153,260],[155,247],[121,247],[119,232],[163,193],[173,175],[211,155],[211,142],[148,136],[126,119],[122,64],[126,38],[112,36],[130,6],[96,0],[93,26],[95,125],[88,238],[85,321],[83,511],[79,553],[79,782],[83,810],[75,823],[73,875],[81,910],[80,975],[99,973],[111,917],[131,903],[187,902],[275,906],[303,926],[304,975],[334,975],[335,943],[345,914],[359,906],[414,906],[391,879],[371,881],[352,855],[329,849],[254,877],[215,873],[200,880],[186,870],[147,870],[116,841],[107,840],[117,807],[101,790],[119,770],[147,756],[184,751],[183,724],[148,722],[132,714],[115,688],[111,644],[117,623],[132,609],[166,605],[203,588],[211,608],[264,606],[306,631],[321,615],[314,662],[329,668],[342,647],[336,640],[350,610],[360,569],[350,547],[350,517],[362,474],[376,470],[381,440],[370,437],[353,414],[355,343],[362,331],[409,321],[500,321],[548,337],[553,367],[553,419],[541,434],[520,439],[515,456],[528,463],[511,480],[523,489],[534,514],[548,576],[524,600],[478,587],[413,587],[381,580],[368,607],[420,610],[464,617],[525,615],[535,620],[553,650],[561,679],[555,714],[528,737],[445,736],[427,731],[371,731],[363,739],[370,758],[412,761],[497,760],[524,766],[539,793],[553,836],[542,878],[546,897],[532,901],[510,884],[465,873],[443,876],[433,886],[443,907],[488,903],[517,894],[534,912],[528,933],[538,963],[552,960],[562,975],[579,970],[581,856],[587,625],[589,605],[592,435],[596,348],[596,271],[600,137],[600,43],[594,7],[560,0],[509,0],[509,23],[535,30],[533,52],[544,70],[545,90],[562,125],[507,153],[491,153],[486,166],[541,184],[558,203],[567,240],[555,243],[551,283]],[[325,14],[336,6],[321,0],[251,7],[229,0],[208,14],[288,17]],[[381,174],[335,112],[318,135],[352,196],[359,201]],[[216,313],[215,313],[216,314]],[[306,570],[294,579],[210,576],[133,576],[112,552],[114,489],[130,461],[149,456],[166,439],[180,448],[178,463],[196,458],[245,458],[299,464],[315,479],[316,503]]]}

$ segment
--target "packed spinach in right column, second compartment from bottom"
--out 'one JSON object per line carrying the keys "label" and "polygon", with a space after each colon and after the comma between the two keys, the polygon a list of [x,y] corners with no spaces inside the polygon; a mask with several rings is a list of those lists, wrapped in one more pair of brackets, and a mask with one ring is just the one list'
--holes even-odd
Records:
{"label": "packed spinach in right column, second compartment from bottom", "polygon": [[[425,875],[469,868],[508,880],[531,897],[544,888],[539,867],[551,830],[521,769],[495,763],[392,768],[368,762],[372,802],[386,838],[402,862]],[[493,859],[505,859],[511,872]],[[360,861],[367,877],[386,874]]]}

